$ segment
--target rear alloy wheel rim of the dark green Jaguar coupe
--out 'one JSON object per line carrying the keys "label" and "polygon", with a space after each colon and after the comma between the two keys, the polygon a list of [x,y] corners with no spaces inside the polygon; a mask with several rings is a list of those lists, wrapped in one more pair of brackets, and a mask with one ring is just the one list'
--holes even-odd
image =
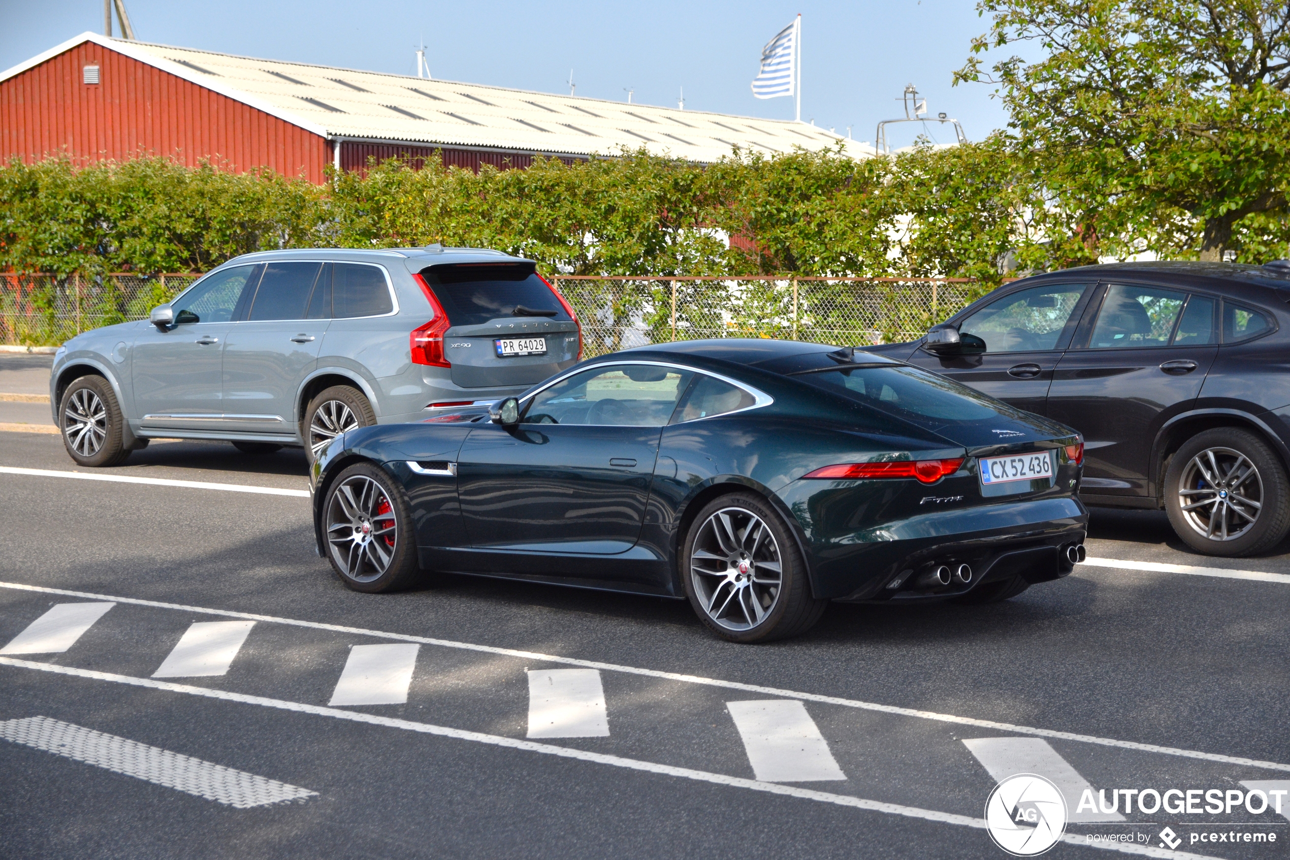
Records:
{"label": "rear alloy wheel rim of the dark green Jaguar coupe", "polygon": [[715,623],[729,630],[757,627],[775,607],[783,585],[775,535],[751,511],[717,511],[694,539],[690,581]]}

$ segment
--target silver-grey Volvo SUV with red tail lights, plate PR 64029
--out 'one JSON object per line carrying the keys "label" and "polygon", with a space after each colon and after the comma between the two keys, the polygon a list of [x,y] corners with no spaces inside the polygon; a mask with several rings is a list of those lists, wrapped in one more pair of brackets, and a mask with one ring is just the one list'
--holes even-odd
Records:
{"label": "silver-grey Volvo SUV with red tail lights, plate PR 64029", "polygon": [[312,459],[347,429],[519,395],[580,356],[577,315],[533,260],[437,245],[266,251],[151,320],[72,338],[49,393],[81,465],[157,437]]}

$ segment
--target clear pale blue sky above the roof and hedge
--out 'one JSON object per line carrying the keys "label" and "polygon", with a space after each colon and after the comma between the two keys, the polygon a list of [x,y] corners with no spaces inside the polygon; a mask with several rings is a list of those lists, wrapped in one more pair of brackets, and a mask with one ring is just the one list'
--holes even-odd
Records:
{"label": "clear pale blue sky above the roof and hedge", "polygon": [[[102,32],[102,0],[0,0],[0,70],[86,30]],[[913,83],[931,115],[946,111],[978,141],[1006,122],[992,88],[951,88],[969,40],[986,31],[969,0],[885,3],[408,3],[382,0],[126,0],[135,36],[250,57],[415,73],[422,37],[435,77],[569,92],[688,110],[792,119],[792,99],[759,101],[749,83],[761,46],[802,14],[802,120],[873,141],[902,115]],[[917,124],[891,143],[912,142]],[[940,142],[953,139],[930,124]]]}

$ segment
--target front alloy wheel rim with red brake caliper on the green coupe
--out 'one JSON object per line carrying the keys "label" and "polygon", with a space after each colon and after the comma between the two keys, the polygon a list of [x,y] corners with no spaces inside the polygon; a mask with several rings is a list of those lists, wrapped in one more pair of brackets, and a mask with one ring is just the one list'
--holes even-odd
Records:
{"label": "front alloy wheel rim with red brake caliper on the green coupe", "polygon": [[365,474],[346,478],[332,493],[326,539],[332,558],[347,578],[370,583],[384,574],[399,544],[399,523],[386,489]]}

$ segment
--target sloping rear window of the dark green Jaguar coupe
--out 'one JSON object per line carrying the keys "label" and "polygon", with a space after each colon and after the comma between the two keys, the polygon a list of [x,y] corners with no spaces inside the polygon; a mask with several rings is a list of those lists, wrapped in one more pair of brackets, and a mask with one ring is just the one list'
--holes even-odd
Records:
{"label": "sloping rear window of the dark green Jaguar coupe", "polygon": [[971,424],[1014,414],[997,400],[917,367],[841,366],[793,378],[922,427]]}

